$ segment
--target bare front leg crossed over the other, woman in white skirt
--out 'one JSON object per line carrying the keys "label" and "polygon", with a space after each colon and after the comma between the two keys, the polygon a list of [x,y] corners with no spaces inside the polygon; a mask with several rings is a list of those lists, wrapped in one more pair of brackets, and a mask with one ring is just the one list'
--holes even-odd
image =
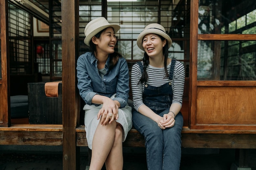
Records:
{"label": "bare front leg crossed over the other, woman in white skirt", "polygon": [[98,124],[92,139],[92,159],[89,170],[101,170],[113,146],[116,127],[116,121],[107,125]]}

